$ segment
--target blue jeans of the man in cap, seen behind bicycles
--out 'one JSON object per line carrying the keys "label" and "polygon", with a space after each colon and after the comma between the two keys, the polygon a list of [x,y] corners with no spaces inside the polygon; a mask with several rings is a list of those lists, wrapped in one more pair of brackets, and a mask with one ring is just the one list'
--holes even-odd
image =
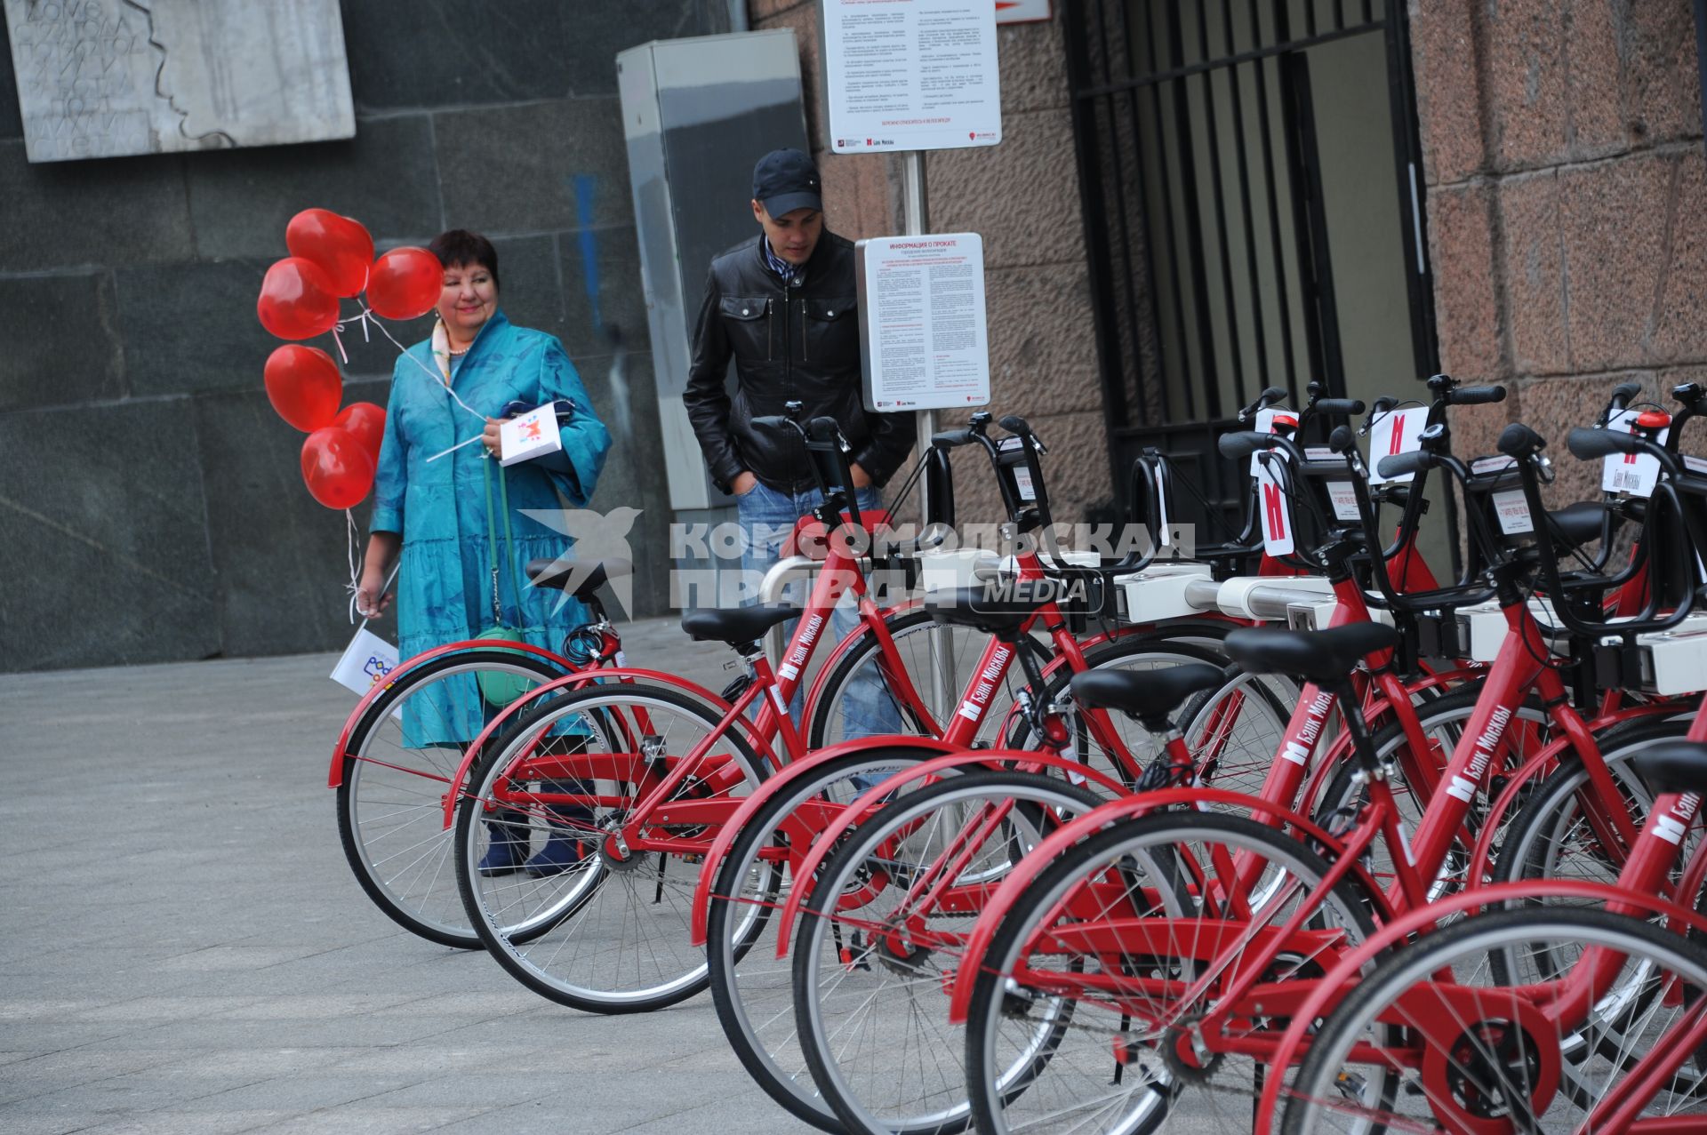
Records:
{"label": "blue jeans of the man in cap, seen behind bicycles", "polygon": [[[809,488],[801,493],[780,493],[768,485],[758,483],[749,492],[736,497],[736,505],[743,531],[741,546],[741,570],[746,572],[746,579],[758,584],[758,579],[765,573],[770,565],[782,558],[782,541],[787,539],[789,533],[794,531],[795,521],[823,503],[824,495],[816,488]],[[876,512],[883,509],[883,495],[876,488],[860,488],[855,493],[860,512]],[[804,587],[799,580],[789,585],[784,596],[790,601],[801,602]],[[799,620],[790,620],[784,625],[785,635],[794,635],[794,628]],[[835,649],[836,642],[845,638],[859,625],[859,609],[855,608],[852,596],[843,596],[842,602],[836,604],[835,614],[830,620],[831,638],[819,640],[818,657],[826,657],[830,650]],[[799,690],[794,693],[794,701],[789,705],[795,724],[801,722],[801,708],[804,703],[802,691],[806,690],[806,681],[802,681]],[[843,707],[842,707],[842,737],[871,737],[876,734],[894,734],[901,732],[901,710],[894,698],[889,696],[888,688],[884,688],[883,679],[877,674],[876,664],[862,666],[854,681],[848,683]]]}

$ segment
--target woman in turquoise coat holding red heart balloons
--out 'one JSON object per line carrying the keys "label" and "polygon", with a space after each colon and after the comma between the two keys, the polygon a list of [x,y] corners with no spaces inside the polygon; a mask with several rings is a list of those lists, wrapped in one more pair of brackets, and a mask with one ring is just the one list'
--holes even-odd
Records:
{"label": "woman in turquoise coat holding red heart balloons", "polygon": [[[357,608],[374,618],[396,597],[398,654],[405,659],[492,630],[492,533],[504,626],[536,647],[560,650],[587,613],[560,591],[527,585],[529,560],[562,556],[570,544],[527,512],[584,509],[611,435],[556,336],[517,328],[498,309],[492,242],[456,229],[428,247],[444,265],[439,323],[391,374]],[[493,456],[500,418],[546,403],[556,403],[563,452],[500,468]],[[459,445],[473,437],[480,442]],[[505,498],[507,538],[498,503]],[[488,500],[498,515],[488,514]],[[398,555],[393,596],[384,585]],[[430,703],[405,712],[410,748],[463,748],[493,712],[473,676],[437,683],[422,696]],[[550,859],[550,850],[541,855]]]}

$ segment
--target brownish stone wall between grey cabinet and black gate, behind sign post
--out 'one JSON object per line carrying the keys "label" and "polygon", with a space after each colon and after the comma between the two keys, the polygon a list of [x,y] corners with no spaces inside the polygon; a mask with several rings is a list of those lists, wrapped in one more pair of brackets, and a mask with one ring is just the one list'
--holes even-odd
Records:
{"label": "brownish stone wall between grey cabinet and black gate, behind sign post", "polygon": [[[754,27],[792,27],[801,43],[807,130],[831,229],[850,239],[898,234],[898,159],[828,152],[818,9],[814,0],[748,3]],[[997,29],[1002,143],[927,154],[925,186],[932,232],[983,236],[990,410],[1031,422],[1050,447],[1055,515],[1077,521],[1113,488],[1060,20]],[[964,425],[947,413],[942,428]],[[990,466],[973,451],[956,457],[956,502],[963,521],[997,515]]]}

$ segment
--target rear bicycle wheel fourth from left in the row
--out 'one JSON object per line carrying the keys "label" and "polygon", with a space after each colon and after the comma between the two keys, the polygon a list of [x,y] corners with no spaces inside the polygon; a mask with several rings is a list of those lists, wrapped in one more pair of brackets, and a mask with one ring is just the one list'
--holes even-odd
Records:
{"label": "rear bicycle wheel fourth from left in the row", "polygon": [[[1058,777],[968,771],[891,802],[824,864],[801,911],[794,1005],[813,1080],[845,1130],[970,1125],[964,1045],[947,1022],[966,934],[1026,852],[1101,802]],[[871,901],[842,901],[874,881],[886,886]]]}

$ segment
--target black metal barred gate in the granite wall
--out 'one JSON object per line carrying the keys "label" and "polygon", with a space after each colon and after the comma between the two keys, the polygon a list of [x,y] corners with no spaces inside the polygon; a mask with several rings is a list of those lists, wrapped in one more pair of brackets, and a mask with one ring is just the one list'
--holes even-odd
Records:
{"label": "black metal barred gate in the granite wall", "polygon": [[[1145,447],[1234,512],[1215,439],[1267,386],[1345,391],[1311,48],[1383,36],[1413,375],[1436,369],[1401,0],[1067,0],[1098,355],[1116,495]],[[1123,503],[1123,502],[1121,502]]]}

